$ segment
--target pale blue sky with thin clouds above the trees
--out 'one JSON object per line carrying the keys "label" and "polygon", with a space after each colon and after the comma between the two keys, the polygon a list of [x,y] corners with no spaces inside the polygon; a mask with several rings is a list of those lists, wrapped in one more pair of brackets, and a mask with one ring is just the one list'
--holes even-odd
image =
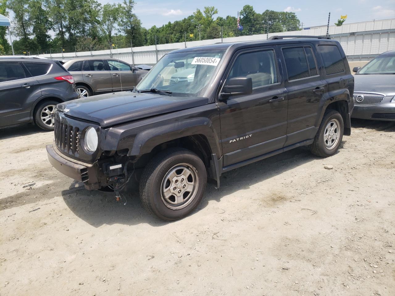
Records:
{"label": "pale blue sky with thin clouds above the trees", "polygon": [[[332,0],[319,2],[316,0],[305,1],[183,1],[183,0],[135,0],[135,13],[145,28],[153,25],[162,26],[167,22],[181,20],[192,14],[196,8],[203,10],[204,6],[215,6],[219,13],[216,16],[237,16],[237,10],[241,10],[245,4],[252,5],[256,12],[262,13],[266,9],[276,11],[295,12],[303,26],[323,25],[328,21],[328,13],[331,12],[331,24],[340,15],[348,15],[346,22],[370,21],[373,19],[395,18],[395,0]],[[102,4],[117,3],[122,0],[99,0]]]}

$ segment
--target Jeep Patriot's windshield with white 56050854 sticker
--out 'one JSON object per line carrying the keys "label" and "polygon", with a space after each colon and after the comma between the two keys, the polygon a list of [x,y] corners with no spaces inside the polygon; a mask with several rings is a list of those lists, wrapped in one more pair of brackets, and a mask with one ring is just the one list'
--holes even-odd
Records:
{"label": "Jeep Patriot's windshield with white 56050854 sticker", "polygon": [[218,50],[166,54],[137,84],[134,92],[162,90],[172,96],[201,96],[224,52]]}

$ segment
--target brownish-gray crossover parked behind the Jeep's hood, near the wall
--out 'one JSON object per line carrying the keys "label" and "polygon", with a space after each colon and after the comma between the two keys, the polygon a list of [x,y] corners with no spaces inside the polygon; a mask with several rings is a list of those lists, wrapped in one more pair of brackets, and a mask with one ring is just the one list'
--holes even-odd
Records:
{"label": "brownish-gray crossover parked behind the Jeep's hood, near the wall", "polygon": [[80,97],[132,90],[148,73],[113,58],[76,58],[63,66],[73,75]]}

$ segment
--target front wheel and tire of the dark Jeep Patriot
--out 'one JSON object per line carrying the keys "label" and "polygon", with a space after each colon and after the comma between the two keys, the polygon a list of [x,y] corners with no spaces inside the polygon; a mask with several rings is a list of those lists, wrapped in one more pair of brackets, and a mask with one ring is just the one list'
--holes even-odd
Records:
{"label": "front wheel and tire of the dark Jeep Patriot", "polygon": [[183,148],[171,148],[156,155],[140,180],[144,208],[165,221],[181,219],[203,198],[207,171],[198,155]]}

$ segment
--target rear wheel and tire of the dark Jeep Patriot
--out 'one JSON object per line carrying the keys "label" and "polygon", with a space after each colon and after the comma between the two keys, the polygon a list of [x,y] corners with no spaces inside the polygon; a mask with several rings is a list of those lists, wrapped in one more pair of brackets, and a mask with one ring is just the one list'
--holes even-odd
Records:
{"label": "rear wheel and tire of the dark Jeep Patriot", "polygon": [[314,142],[310,145],[312,154],[320,157],[335,154],[343,139],[343,133],[344,123],[340,113],[336,110],[325,111]]}

